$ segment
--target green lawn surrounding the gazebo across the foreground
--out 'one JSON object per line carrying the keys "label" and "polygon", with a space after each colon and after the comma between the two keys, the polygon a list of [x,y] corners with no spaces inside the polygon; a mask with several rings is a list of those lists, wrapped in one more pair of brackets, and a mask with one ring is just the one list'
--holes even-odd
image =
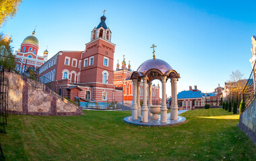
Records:
{"label": "green lawn surrounding the gazebo across the foreground", "polygon": [[6,160],[256,160],[239,115],[223,109],[187,111],[187,123],[173,127],[124,123],[131,111],[85,113],[9,115],[0,134]]}

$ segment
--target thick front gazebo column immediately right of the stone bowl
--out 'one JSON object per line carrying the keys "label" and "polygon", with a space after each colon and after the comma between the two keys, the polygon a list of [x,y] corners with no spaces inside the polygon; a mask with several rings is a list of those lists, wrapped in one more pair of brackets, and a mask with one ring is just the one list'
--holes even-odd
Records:
{"label": "thick front gazebo column immediately right of the stone bowl", "polygon": [[161,106],[160,123],[166,123],[166,121],[167,121],[166,76],[161,76],[161,81],[162,81],[162,106]]}

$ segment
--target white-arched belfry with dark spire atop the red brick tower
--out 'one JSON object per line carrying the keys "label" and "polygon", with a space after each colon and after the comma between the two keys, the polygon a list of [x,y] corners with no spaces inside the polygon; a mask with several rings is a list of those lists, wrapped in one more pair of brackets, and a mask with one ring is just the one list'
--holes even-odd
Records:
{"label": "white-arched belfry with dark spire atop the red brick tower", "polygon": [[103,14],[102,17],[100,17],[100,23],[98,24],[97,28],[94,28],[94,30],[92,30],[91,41],[97,38],[102,38],[104,40],[107,40],[108,42],[111,41],[111,31],[106,26],[105,21],[106,17]]}

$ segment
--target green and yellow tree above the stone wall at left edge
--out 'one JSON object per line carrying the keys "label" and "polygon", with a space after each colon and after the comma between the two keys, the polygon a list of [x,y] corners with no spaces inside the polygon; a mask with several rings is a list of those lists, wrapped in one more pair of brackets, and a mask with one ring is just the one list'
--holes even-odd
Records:
{"label": "green and yellow tree above the stone wall at left edge", "polygon": [[14,69],[15,67],[15,56],[12,54],[11,42],[11,37],[0,34],[0,65],[3,65],[3,68]]}

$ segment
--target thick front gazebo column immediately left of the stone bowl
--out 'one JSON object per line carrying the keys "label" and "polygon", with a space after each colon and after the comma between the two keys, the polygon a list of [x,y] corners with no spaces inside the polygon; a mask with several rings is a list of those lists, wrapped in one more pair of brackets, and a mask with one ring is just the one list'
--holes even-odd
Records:
{"label": "thick front gazebo column immediately left of the stone bowl", "polygon": [[143,76],[143,105],[142,105],[142,116],[143,116],[143,122],[148,122],[148,105],[147,105],[147,76]]}

